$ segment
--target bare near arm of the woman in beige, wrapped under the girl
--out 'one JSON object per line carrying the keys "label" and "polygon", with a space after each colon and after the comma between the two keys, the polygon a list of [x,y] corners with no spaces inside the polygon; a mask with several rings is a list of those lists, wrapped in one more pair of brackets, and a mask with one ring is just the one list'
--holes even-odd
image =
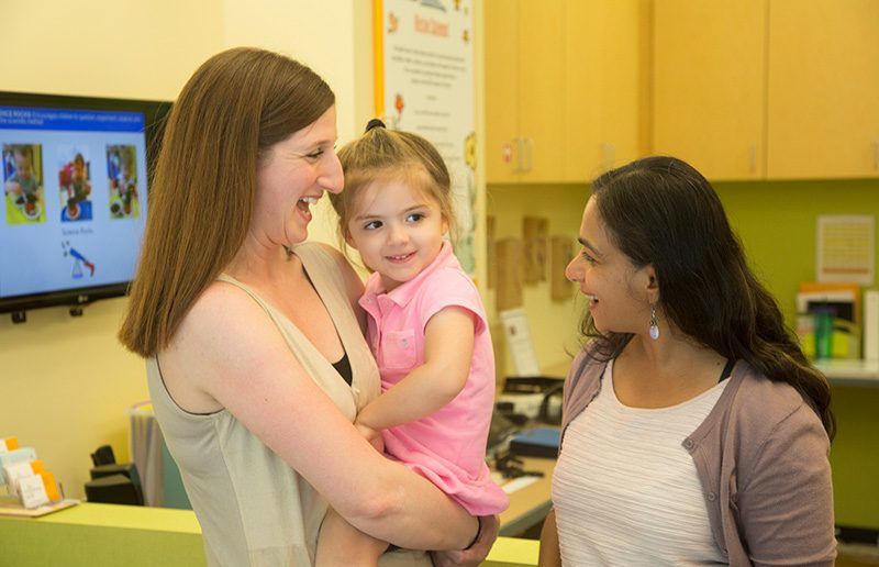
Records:
{"label": "bare near arm of the woman in beige, wrapped under the girl", "polygon": [[459,549],[472,540],[477,520],[378,454],[241,289],[211,286],[162,357],[173,394],[210,396],[357,529],[416,549]]}

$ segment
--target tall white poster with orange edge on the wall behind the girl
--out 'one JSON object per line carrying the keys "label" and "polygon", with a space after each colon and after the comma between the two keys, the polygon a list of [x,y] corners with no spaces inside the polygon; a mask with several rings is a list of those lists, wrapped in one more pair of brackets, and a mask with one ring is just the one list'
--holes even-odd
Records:
{"label": "tall white poster with orange edge on the wall behind the girl", "polygon": [[455,254],[475,269],[472,0],[374,0],[376,115],[425,137],[452,176]]}

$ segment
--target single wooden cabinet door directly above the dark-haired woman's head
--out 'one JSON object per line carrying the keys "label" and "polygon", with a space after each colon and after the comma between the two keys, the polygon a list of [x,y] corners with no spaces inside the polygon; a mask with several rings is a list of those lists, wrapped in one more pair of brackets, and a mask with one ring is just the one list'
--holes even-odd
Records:
{"label": "single wooden cabinet door directly above the dark-haired woman's head", "polygon": [[654,3],[653,153],[710,179],[766,175],[766,0]]}

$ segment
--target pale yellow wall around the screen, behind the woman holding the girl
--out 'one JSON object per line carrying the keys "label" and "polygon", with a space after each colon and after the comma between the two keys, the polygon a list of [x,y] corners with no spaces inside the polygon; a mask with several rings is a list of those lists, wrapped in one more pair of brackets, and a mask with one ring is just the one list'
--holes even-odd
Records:
{"label": "pale yellow wall around the screen, behind the woman holding the girl", "polygon": [[[340,138],[371,111],[369,2],[308,0],[84,0],[0,4],[4,90],[171,100],[198,65],[235,45],[291,54],[336,92]],[[327,31],[332,31],[329,33]],[[312,234],[334,236],[326,214]],[[31,311],[13,325],[0,315],[0,436],[34,446],[81,498],[89,454],[110,443],[127,455],[125,409],[147,398],[143,362],[115,332],[124,299],[100,301],[73,319],[63,308]]]}

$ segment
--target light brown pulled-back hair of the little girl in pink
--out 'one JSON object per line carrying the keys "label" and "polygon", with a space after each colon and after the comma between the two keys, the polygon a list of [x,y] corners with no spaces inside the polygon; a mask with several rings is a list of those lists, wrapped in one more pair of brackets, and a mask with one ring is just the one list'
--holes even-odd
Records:
{"label": "light brown pulled-back hair of the little girl in pink", "polygon": [[443,157],[423,137],[411,132],[370,127],[338,151],[345,173],[345,189],[330,193],[330,202],[338,213],[338,230],[348,236],[348,222],[356,214],[363,190],[376,180],[399,180],[436,200],[449,235],[455,234],[452,205],[452,181]]}

